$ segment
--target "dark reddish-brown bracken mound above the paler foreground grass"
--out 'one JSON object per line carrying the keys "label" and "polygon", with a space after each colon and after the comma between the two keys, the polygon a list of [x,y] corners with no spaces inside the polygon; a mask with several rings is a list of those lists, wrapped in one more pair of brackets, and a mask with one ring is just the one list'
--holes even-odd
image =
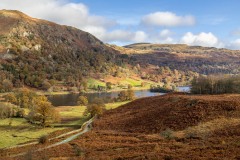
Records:
{"label": "dark reddish-brown bracken mound above the paler foreground grass", "polygon": [[221,116],[240,118],[239,113],[239,95],[207,97],[175,93],[135,100],[108,111],[94,125],[103,130],[160,133],[168,128],[184,130]]}

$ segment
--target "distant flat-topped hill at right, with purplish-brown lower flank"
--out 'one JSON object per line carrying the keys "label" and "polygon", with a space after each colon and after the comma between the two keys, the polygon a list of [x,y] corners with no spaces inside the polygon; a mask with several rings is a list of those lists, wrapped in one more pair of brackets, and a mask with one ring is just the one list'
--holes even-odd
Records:
{"label": "distant flat-topped hill at right, with purplish-brown lower flank", "polygon": [[137,43],[115,49],[128,54],[139,64],[168,66],[170,69],[193,71],[199,74],[240,73],[239,50],[149,43]]}

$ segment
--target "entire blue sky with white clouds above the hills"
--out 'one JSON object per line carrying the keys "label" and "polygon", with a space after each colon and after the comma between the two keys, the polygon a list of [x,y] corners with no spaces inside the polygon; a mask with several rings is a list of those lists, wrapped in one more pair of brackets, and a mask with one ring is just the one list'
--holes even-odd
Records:
{"label": "entire blue sky with white clouds above the hills", "polygon": [[0,9],[71,25],[106,43],[240,49],[239,0],[1,0]]}

